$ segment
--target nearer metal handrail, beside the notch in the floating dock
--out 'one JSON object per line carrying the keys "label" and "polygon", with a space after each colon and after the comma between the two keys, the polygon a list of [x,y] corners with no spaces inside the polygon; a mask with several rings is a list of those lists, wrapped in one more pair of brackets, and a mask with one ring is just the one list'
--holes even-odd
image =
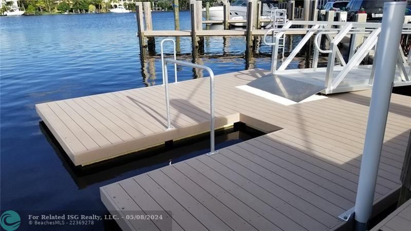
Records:
{"label": "nearer metal handrail, beside the notch in the floating dock", "polygon": [[174,63],[174,65],[181,65],[181,66],[188,66],[188,67],[194,67],[202,70],[206,70],[210,74],[210,152],[207,153],[207,155],[213,155],[217,153],[218,151],[215,150],[215,144],[214,144],[214,72],[211,70],[210,67],[203,66],[203,65],[198,65],[194,63],[189,63],[189,62],[184,62],[184,61],[179,61],[179,60],[173,60],[173,59],[165,59],[164,60],[164,68],[163,68],[163,74],[164,74],[164,86],[165,86],[165,103],[166,103],[166,111],[167,111],[167,126],[170,128],[171,127],[171,122],[170,122],[170,100],[169,100],[169,81],[168,79],[168,74],[167,74],[167,63]]}

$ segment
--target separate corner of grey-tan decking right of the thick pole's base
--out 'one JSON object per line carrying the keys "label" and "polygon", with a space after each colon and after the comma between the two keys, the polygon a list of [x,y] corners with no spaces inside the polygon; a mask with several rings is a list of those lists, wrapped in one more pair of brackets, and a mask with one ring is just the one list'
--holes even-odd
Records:
{"label": "separate corner of grey-tan decking right of the thick pole's base", "polygon": [[411,231],[411,200],[408,200],[370,231]]}

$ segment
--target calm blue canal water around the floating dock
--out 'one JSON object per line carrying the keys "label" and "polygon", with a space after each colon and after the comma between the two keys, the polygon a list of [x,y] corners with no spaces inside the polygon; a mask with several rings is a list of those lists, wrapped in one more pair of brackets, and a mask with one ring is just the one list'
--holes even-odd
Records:
{"label": "calm blue canal water around the floating dock", "polygon": [[[188,12],[180,18],[181,28],[188,29]],[[154,29],[174,27],[171,12],[154,12],[153,22]],[[106,214],[99,187],[169,163],[164,157],[164,163],[151,167],[73,170],[34,108],[42,102],[158,84],[159,42],[141,65],[133,13],[0,17],[2,210]],[[244,59],[244,47],[243,37],[211,38],[196,62],[212,67],[215,74],[269,69],[268,47],[261,46],[250,62]],[[171,53],[170,47],[166,51]],[[190,52],[190,39],[182,38],[179,59],[192,61]],[[291,66],[300,65],[304,62]],[[190,68],[179,70],[180,81],[201,77]],[[104,225],[111,229],[110,223]],[[89,229],[102,228],[103,223]]]}

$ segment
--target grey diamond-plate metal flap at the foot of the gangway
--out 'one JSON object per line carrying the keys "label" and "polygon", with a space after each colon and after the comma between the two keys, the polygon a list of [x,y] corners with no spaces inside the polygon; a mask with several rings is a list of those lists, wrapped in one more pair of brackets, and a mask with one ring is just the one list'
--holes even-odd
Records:
{"label": "grey diamond-plate metal flap at the foot of the gangway", "polygon": [[320,86],[281,75],[258,78],[247,85],[297,103],[326,88],[324,85]]}

